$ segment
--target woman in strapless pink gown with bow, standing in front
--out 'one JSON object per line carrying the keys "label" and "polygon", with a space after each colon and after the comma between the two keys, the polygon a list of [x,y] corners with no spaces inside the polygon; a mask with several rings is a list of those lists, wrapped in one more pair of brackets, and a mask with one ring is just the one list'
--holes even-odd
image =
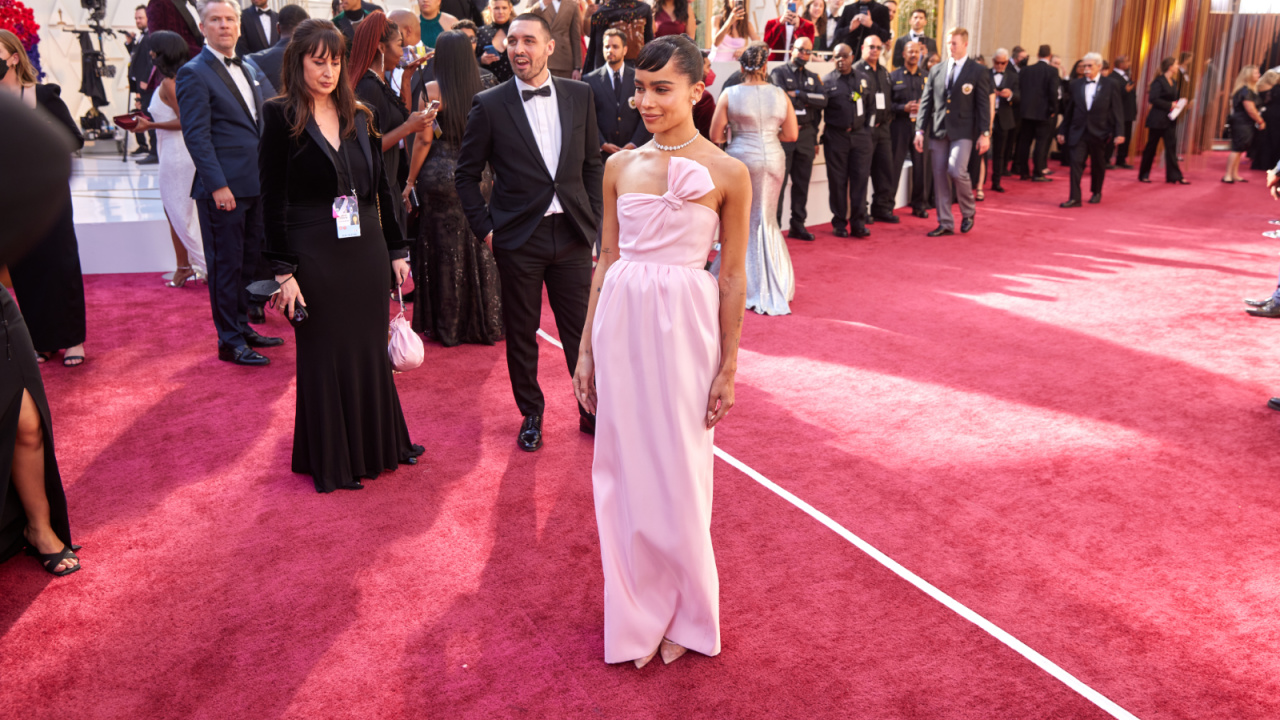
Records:
{"label": "woman in strapless pink gown with bow, standing in front", "polygon": [[[654,133],[604,169],[600,263],[573,388],[596,414],[591,482],[604,564],[604,661],[717,655],[713,428],[733,405],[751,179],[704,140],[703,60],[645,45],[636,108]],[[721,229],[721,275],[703,268]]]}

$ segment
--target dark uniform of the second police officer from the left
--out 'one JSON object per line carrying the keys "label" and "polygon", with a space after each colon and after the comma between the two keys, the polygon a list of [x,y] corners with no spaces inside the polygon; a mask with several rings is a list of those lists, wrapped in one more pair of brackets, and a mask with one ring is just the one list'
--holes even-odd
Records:
{"label": "dark uniform of the second police officer from the left", "polygon": [[[832,70],[823,77],[822,90],[827,95],[823,110],[827,124],[822,132],[827,160],[827,186],[831,193],[831,225],[836,237],[867,237],[864,215],[867,211],[867,182],[872,167],[872,131],[867,127],[867,96],[869,81],[856,69],[847,76]],[[849,215],[852,197],[854,215]],[[845,229],[849,224],[850,229]]]}

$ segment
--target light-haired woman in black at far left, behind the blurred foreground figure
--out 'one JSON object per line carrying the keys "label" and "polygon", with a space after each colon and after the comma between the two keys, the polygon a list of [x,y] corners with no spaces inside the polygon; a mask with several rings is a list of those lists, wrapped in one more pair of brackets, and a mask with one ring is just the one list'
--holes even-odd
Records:
{"label": "light-haired woman in black at far left, behind the blurred foreground figure", "polygon": [[[76,141],[76,150],[84,146],[84,138],[60,97],[61,88],[36,82],[36,70],[27,51],[18,36],[6,29],[0,31],[0,64],[9,68],[0,78],[3,90],[19,96],[28,108],[38,105],[65,126]],[[56,201],[63,205],[58,222],[22,260],[9,266],[9,274],[38,361],[44,363],[61,350],[63,365],[70,368],[84,361],[84,278],[81,275],[79,243],[72,218],[70,186],[58,191]]]}

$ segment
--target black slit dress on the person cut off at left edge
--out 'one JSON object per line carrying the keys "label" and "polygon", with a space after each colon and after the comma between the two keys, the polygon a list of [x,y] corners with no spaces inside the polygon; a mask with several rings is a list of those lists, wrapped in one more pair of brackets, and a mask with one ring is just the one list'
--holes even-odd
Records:
{"label": "black slit dress on the person cut off at left edge", "polygon": [[[78,135],[68,133],[61,123],[46,122],[49,115],[36,115],[22,108],[17,100],[0,97],[0,137],[20,137],[20,143],[0,147],[0,167],[26,168],[23,184],[0,196],[0,264],[10,263],[31,243],[31,236],[42,233],[51,222],[44,199],[67,190],[70,174],[70,150],[83,143]],[[74,141],[74,142],[73,142]],[[67,514],[67,496],[63,493],[61,475],[54,455],[54,425],[45,398],[45,384],[36,364],[36,350],[31,345],[27,324],[18,311],[18,304],[0,287],[0,562],[26,544],[22,530],[27,527],[27,514],[17,488],[10,483],[14,446],[18,437],[18,416],[22,410],[22,391],[31,393],[45,436],[45,496],[49,498],[49,519],[54,533],[65,544],[72,544],[70,521]]]}

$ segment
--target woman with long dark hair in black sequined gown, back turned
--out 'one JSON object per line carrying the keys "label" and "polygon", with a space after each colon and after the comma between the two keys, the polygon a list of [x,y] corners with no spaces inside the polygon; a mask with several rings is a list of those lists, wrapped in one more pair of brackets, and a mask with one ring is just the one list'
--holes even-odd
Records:
{"label": "woman with long dark hair in black sequined gown, back turned", "polygon": [[442,33],[435,44],[435,79],[428,83],[422,99],[424,105],[440,102],[440,136],[430,127],[419,133],[404,199],[416,187],[422,208],[422,252],[413,263],[419,287],[413,329],[445,347],[462,342],[493,345],[503,334],[498,264],[471,232],[453,178],[471,99],[481,88],[471,40],[456,31]]}

